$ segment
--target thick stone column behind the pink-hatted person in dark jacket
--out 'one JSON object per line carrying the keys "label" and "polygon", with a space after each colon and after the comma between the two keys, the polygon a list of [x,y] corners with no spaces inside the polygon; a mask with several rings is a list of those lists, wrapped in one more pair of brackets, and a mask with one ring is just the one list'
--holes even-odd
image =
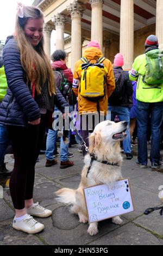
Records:
{"label": "thick stone column behind the pink-hatted person in dark jacket", "polygon": [[120,53],[123,69],[131,69],[134,60],[134,2],[121,0]]}

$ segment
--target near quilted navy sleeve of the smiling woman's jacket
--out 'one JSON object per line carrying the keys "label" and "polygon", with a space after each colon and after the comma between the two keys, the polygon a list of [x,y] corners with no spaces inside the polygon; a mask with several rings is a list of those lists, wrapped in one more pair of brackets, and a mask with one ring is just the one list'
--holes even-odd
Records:
{"label": "near quilted navy sleeve of the smiling woman's jacket", "polygon": [[10,39],[5,45],[3,60],[8,87],[26,115],[27,120],[34,121],[40,118],[39,106],[30,94],[30,90],[24,81],[20,52],[14,39]]}

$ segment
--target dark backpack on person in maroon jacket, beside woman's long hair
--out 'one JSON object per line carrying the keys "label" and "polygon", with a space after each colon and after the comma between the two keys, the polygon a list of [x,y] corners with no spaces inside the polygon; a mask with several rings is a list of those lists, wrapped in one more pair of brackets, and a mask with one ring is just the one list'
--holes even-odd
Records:
{"label": "dark backpack on person in maroon jacket, beside woman's long hair", "polygon": [[65,97],[66,100],[68,100],[70,105],[76,105],[77,97],[73,93],[72,84],[69,83],[65,78],[64,71],[59,69],[54,70],[53,73],[55,77],[56,86],[60,90],[61,94]]}

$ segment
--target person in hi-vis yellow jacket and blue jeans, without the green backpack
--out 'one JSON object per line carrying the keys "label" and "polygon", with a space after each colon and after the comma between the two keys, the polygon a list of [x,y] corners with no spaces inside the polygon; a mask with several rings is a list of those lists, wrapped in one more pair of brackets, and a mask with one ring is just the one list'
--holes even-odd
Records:
{"label": "person in hi-vis yellow jacket and blue jeans, without the green backpack", "polygon": [[152,50],[158,51],[158,38],[149,35],[145,42],[145,53],[136,57],[132,69],[129,71],[131,81],[137,80],[137,164],[141,168],[147,168],[147,129],[148,120],[151,118],[151,167],[160,168],[160,137],[163,112],[163,83],[149,85],[143,82],[146,74],[146,53]]}

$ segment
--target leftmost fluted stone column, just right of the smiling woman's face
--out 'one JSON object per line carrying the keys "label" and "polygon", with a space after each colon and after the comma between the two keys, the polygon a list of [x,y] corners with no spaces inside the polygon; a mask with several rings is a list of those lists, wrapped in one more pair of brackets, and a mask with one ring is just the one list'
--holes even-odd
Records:
{"label": "leftmost fluted stone column, just right of the smiling woman's face", "polygon": [[52,33],[52,26],[44,23],[43,25],[43,38],[44,38],[44,50],[49,59],[51,59],[51,33]]}

